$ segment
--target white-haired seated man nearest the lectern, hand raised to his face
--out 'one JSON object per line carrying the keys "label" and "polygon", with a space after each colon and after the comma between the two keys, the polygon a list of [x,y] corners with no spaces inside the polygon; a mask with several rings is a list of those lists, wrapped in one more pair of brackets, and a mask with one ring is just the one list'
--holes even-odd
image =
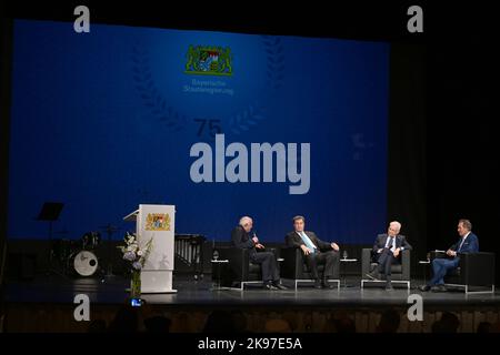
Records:
{"label": "white-haired seated man nearest the lectern, hand raised to his face", "polygon": [[280,273],[276,264],[276,257],[272,252],[257,252],[263,250],[256,233],[250,234],[253,226],[252,219],[241,217],[240,224],[231,232],[231,241],[234,246],[250,250],[250,261],[253,264],[261,264],[262,280],[267,290],[287,290],[280,282]]}

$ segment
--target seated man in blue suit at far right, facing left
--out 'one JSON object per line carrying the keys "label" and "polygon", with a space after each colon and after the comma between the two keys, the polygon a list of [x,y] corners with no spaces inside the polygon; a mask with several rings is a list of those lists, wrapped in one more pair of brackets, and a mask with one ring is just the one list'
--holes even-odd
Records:
{"label": "seated man in blue suit at far right, facing left", "polygon": [[420,291],[444,292],[443,277],[453,268],[458,267],[460,257],[458,253],[477,253],[479,252],[478,236],[472,233],[472,224],[469,220],[460,220],[457,226],[457,231],[460,235],[460,240],[450,246],[447,251],[447,255],[450,258],[434,258],[432,261],[433,276],[427,285],[420,286]]}

